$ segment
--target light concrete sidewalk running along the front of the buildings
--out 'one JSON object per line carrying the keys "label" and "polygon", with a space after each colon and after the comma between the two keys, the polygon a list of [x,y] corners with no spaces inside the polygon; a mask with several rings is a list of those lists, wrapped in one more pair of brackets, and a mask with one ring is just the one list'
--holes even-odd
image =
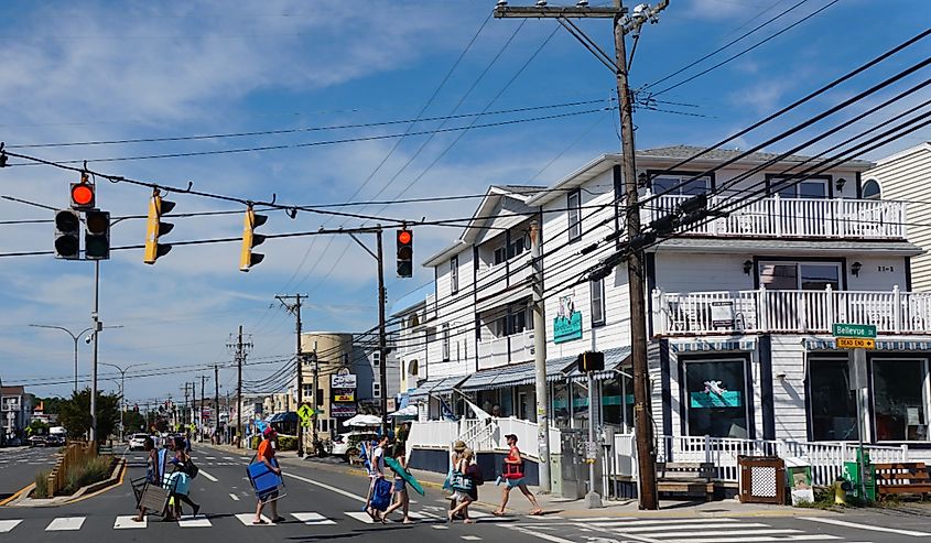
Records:
{"label": "light concrete sidewalk running along the front of the buildings", "polygon": [[[230,445],[209,445],[195,444],[195,449],[199,446],[209,446],[226,453],[235,453],[240,456],[251,456],[253,450],[247,448],[236,448]],[[297,458],[297,453],[294,450],[285,450],[278,453],[278,458],[283,465],[307,466],[312,465],[317,469],[325,469],[331,473],[367,477],[364,469],[358,466],[349,466],[342,461],[334,461],[332,458]],[[411,469],[411,474],[420,481],[424,489],[432,490],[432,493],[448,492],[443,490],[444,474],[436,474],[433,471],[423,471],[420,469]],[[504,487],[495,485],[495,481],[486,481],[479,487],[477,506],[487,511],[494,511],[498,508],[501,499]],[[554,495],[541,495],[539,488],[529,487],[540,507],[545,511],[544,514],[572,515],[576,518],[617,518],[617,517],[660,517],[660,518],[719,518],[719,517],[820,517],[832,514],[830,512],[818,509],[793,508],[789,506],[769,506],[757,503],[740,503],[737,499],[712,501],[712,502],[696,502],[686,500],[663,500],[660,502],[659,511],[641,511],[637,500],[604,500],[604,507],[599,509],[587,509],[585,500],[569,500]],[[524,498],[520,490],[511,490],[508,500],[508,512],[510,514],[527,514],[530,512],[530,502]]]}

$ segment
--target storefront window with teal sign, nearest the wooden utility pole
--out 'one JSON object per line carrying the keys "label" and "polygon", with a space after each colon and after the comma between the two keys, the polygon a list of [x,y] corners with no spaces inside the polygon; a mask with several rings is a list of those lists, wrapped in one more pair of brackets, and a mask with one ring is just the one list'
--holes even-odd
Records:
{"label": "storefront window with teal sign, nearest the wooden utility pole", "polygon": [[689,435],[748,437],[746,360],[685,362]]}

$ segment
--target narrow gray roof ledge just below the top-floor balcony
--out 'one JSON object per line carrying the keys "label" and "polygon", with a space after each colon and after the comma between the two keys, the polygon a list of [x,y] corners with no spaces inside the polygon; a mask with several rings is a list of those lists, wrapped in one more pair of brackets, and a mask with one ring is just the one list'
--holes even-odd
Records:
{"label": "narrow gray roof ledge just below the top-floor balcony", "polygon": [[748,238],[697,238],[679,237],[667,239],[656,251],[688,252],[755,252],[760,254],[849,254],[859,251],[883,251],[887,256],[914,257],[924,251],[908,241],[851,241],[810,239],[748,239]]}

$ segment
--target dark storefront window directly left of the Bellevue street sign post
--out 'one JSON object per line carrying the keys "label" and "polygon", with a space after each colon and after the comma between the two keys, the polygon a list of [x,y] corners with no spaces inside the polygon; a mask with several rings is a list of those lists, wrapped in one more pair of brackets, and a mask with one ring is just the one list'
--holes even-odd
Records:
{"label": "dark storefront window directly left of the Bellevue street sign post", "polygon": [[820,441],[856,441],[857,402],[846,360],[809,361],[811,433]]}

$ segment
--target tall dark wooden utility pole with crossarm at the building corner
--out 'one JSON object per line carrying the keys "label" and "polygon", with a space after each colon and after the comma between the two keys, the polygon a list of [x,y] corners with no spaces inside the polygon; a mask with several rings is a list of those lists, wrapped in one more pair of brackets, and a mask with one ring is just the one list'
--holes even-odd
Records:
{"label": "tall dark wooden utility pole with crossarm at the building corner", "polygon": [[[499,0],[495,8],[496,18],[556,19],[565,30],[578,40],[595,57],[610,69],[617,82],[618,104],[620,105],[621,172],[625,186],[626,228],[628,240],[640,234],[640,210],[637,205],[637,167],[634,149],[634,117],[631,115],[630,88],[628,86],[627,47],[625,37],[628,33],[639,37],[640,29],[647,21],[656,23],[659,13],[669,6],[669,0],[660,0],[657,6],[639,4],[631,15],[627,15],[621,0],[614,0],[611,7],[588,6],[587,0],[580,0],[575,7],[548,7],[545,0],[539,0],[535,7],[508,7],[506,0]],[[614,57],[588,37],[573,19],[610,19],[614,23]],[[649,399],[649,368],[647,365],[647,317],[645,301],[643,252],[630,251],[627,258],[628,286],[630,290],[630,358],[634,363],[634,417],[637,439],[638,479],[640,482],[640,508],[659,509],[657,497],[656,450],[653,449],[652,416]],[[592,406],[589,406],[589,413]],[[589,419],[589,424],[595,421]]]}

